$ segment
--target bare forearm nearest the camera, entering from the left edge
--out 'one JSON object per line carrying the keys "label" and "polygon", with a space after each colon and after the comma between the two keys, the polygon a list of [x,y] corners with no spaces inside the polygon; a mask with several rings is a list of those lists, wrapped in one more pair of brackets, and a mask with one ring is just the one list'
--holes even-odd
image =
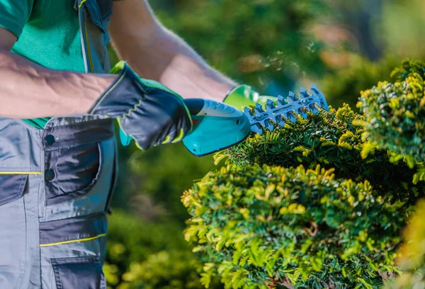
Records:
{"label": "bare forearm nearest the camera, entering from the left edge", "polygon": [[0,117],[87,113],[115,77],[47,69],[0,50]]}

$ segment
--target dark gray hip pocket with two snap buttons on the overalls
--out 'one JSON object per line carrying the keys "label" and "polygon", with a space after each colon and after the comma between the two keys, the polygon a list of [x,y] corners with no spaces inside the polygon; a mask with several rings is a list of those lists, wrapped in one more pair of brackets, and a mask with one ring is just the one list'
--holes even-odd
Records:
{"label": "dark gray hip pocket with two snap buttons on the overalls", "polygon": [[46,204],[89,193],[102,170],[101,142],[113,137],[112,120],[52,127],[43,132],[43,137]]}

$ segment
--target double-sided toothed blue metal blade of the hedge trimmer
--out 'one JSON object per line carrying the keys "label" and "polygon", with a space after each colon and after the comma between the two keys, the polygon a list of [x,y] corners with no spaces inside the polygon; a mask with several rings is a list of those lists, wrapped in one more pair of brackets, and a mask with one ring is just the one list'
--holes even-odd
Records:
{"label": "double-sided toothed blue metal blade of the hedge trimmer", "polygon": [[266,110],[263,109],[261,104],[257,103],[254,108],[254,113],[250,108],[245,108],[244,113],[249,118],[251,123],[251,132],[263,133],[263,128],[273,130],[275,125],[283,127],[286,121],[295,123],[297,115],[302,118],[307,118],[307,112],[319,114],[319,108],[329,111],[326,98],[321,91],[312,84],[310,89],[311,95],[307,93],[306,89],[300,89],[300,94],[296,96],[292,91],[289,93],[288,98],[278,96],[278,101],[273,103],[270,99],[267,100]]}

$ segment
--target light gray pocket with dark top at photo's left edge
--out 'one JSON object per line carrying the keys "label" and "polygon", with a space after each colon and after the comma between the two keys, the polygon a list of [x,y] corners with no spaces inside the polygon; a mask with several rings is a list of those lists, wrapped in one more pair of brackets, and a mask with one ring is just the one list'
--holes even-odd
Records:
{"label": "light gray pocket with dark top at photo's left edge", "polygon": [[28,175],[0,172],[0,288],[18,288],[26,252],[23,193]]}

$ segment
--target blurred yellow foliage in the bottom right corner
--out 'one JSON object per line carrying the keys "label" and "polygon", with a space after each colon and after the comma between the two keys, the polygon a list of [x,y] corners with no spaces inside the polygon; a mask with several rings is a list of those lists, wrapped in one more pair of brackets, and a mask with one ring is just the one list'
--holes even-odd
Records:
{"label": "blurred yellow foliage in the bottom right corner", "polygon": [[404,232],[404,244],[399,251],[399,266],[403,273],[391,289],[425,288],[425,200],[416,205],[416,213]]}

